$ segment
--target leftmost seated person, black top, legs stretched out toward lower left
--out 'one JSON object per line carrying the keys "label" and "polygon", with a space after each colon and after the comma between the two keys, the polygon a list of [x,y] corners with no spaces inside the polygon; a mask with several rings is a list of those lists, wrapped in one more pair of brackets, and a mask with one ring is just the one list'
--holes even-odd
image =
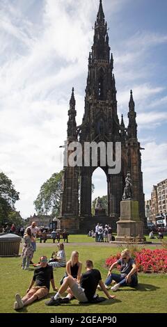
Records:
{"label": "leftmost seated person, black top, legs stretched out toward lower left", "polygon": [[33,273],[33,279],[31,280],[29,289],[26,291],[26,295],[23,298],[21,298],[19,294],[15,295],[14,309],[19,310],[47,296],[50,282],[53,290],[56,291],[57,288],[54,284],[53,268],[47,264],[47,257],[42,256],[40,257],[40,266],[38,266]]}

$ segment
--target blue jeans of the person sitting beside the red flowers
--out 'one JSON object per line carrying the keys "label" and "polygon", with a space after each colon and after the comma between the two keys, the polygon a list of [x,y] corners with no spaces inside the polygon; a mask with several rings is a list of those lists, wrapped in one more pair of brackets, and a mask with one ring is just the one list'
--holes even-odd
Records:
{"label": "blue jeans of the person sitting beside the red flowers", "polygon": [[111,275],[109,275],[109,277],[106,278],[104,284],[106,286],[109,286],[112,282],[112,280],[115,280],[115,282],[117,284],[120,284],[120,286],[131,286],[131,287],[136,287],[138,285],[138,278],[137,276],[134,274],[131,276],[131,282],[130,284],[127,284],[127,280],[125,278],[125,275],[118,275],[118,273],[111,273]]}

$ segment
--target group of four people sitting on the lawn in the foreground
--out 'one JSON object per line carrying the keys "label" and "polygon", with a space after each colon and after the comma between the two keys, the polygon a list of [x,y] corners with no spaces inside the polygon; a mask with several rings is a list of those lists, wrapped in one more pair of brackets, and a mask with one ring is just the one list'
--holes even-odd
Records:
{"label": "group of four people sitting on the lawn in the foreground", "polygon": [[[58,246],[62,248],[60,244]],[[26,295],[23,298],[19,294],[15,295],[15,310],[19,310],[47,296],[49,294],[50,282],[56,294],[45,303],[46,305],[69,303],[72,298],[77,298],[80,303],[105,301],[106,298],[99,297],[96,294],[97,289],[102,289],[107,298],[113,299],[115,296],[109,294],[107,290],[110,288],[113,280],[116,282],[116,285],[111,287],[113,292],[116,292],[120,286],[136,287],[138,285],[136,264],[127,249],[122,251],[120,260],[117,260],[110,266],[105,282],[102,282],[101,273],[99,270],[94,269],[91,260],[86,260],[86,272],[81,274],[82,264],[79,261],[79,253],[72,251],[70,260],[67,261],[65,276],[61,280],[61,287],[59,289],[55,286],[54,282],[53,267],[55,267],[54,263],[56,261],[52,261],[53,259],[56,259],[56,257],[53,258],[53,255],[49,262],[46,256],[40,257],[40,263],[35,268],[33,279],[31,280],[29,289],[27,289]],[[113,273],[113,269],[118,265],[120,265],[120,274]],[[67,296],[62,297],[65,292],[67,292]]]}

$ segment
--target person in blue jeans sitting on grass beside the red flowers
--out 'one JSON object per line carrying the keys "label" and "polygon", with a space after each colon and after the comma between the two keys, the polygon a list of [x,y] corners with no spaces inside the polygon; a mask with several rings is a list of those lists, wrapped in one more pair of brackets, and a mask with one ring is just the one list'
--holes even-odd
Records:
{"label": "person in blue jeans sitting on grass beside the red flowers", "polygon": [[[112,273],[112,270],[118,265],[120,265],[120,275]],[[109,289],[109,285],[111,285],[113,280],[117,282],[116,285],[111,287],[113,292],[116,292],[120,286],[136,287],[138,285],[136,264],[127,248],[122,250],[120,259],[111,264],[108,276],[104,282],[106,289]],[[97,288],[100,289],[100,287]]]}

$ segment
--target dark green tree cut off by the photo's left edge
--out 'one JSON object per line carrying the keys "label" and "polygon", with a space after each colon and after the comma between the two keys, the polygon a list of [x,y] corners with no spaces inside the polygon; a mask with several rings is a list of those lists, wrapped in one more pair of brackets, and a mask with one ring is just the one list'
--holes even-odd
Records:
{"label": "dark green tree cut off by the photo's left edge", "polygon": [[13,182],[0,173],[0,225],[9,223],[9,215],[15,212],[15,202],[19,200],[19,192],[15,191]]}

